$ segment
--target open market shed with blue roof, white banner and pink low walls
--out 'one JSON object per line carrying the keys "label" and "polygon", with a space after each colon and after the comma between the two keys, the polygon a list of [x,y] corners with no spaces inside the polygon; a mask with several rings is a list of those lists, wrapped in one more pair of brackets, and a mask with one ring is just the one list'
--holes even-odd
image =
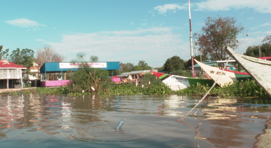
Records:
{"label": "open market shed with blue roof, white banner and pink low walls", "polygon": [[[64,86],[70,82],[70,77],[66,76],[68,71],[77,71],[82,65],[88,65],[92,68],[101,68],[103,70],[119,70],[120,62],[89,62],[89,63],[70,63],[70,62],[50,62],[44,63],[40,68],[42,81],[41,87]],[[64,75],[63,75],[64,74]],[[63,77],[64,76],[64,77]],[[112,71],[113,76],[113,71]],[[64,80],[63,80],[64,79]],[[113,81],[120,81],[120,78],[112,78]]]}

